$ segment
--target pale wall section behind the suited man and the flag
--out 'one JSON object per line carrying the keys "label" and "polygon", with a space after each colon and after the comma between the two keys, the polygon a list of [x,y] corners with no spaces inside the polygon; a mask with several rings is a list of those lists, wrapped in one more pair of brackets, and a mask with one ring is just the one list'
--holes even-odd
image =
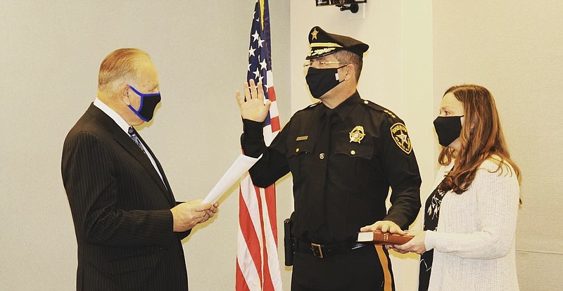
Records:
{"label": "pale wall section behind the suited man and the flag", "polygon": [[[94,101],[101,60],[116,48],[146,50],[159,72],[163,102],[140,133],[176,198],[203,198],[213,187],[240,153],[234,91],[246,78],[254,2],[0,1],[1,290],[75,288],[77,247],[61,149]],[[270,0],[270,12],[285,123],[289,2]],[[281,225],[291,185],[282,182],[277,192]],[[191,290],[234,289],[237,195],[234,186],[212,223],[184,243]]]}

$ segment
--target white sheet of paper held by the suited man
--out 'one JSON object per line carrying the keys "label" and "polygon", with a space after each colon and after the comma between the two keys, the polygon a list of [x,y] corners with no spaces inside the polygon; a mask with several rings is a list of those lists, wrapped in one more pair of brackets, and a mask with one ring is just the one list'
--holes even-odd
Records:
{"label": "white sheet of paper held by the suited man", "polygon": [[[262,155],[260,155],[260,157],[262,157]],[[210,190],[209,194],[205,196],[203,203],[213,204],[217,202],[221,195],[231,188],[234,182],[239,181],[241,176],[248,172],[248,169],[260,160],[260,157],[248,157],[247,155],[242,154],[239,155],[239,157],[234,160],[231,167],[227,169],[227,172],[224,172],[221,179],[215,184],[215,186],[213,186],[213,189]]]}

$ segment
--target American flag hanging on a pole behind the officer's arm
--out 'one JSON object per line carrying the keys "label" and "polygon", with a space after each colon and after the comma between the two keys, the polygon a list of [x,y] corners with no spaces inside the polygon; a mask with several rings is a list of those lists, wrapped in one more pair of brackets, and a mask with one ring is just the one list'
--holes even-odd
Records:
{"label": "American flag hanging on a pole behind the officer's arm", "polygon": [[[270,12],[267,0],[256,0],[248,49],[247,80],[265,86],[272,101],[264,121],[264,140],[270,145],[278,133],[279,117],[270,55]],[[239,189],[239,235],[236,250],[236,290],[282,290],[277,255],[276,189],[253,185],[251,177]]]}

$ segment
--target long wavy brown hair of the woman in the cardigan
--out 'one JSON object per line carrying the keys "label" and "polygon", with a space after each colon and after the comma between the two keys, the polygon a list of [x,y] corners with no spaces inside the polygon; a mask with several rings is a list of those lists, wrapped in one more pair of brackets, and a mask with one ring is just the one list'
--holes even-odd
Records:
{"label": "long wavy brown hair of the woman in the cardigan", "polygon": [[455,159],[453,170],[445,176],[438,189],[464,193],[475,179],[479,166],[494,156],[500,158],[496,159],[499,160],[499,166],[495,172],[502,173],[503,168],[510,169],[502,167],[504,164],[510,164],[520,182],[520,169],[510,160],[491,92],[483,86],[469,84],[452,86],[445,91],[444,96],[448,93],[453,93],[455,98],[463,103],[465,122],[460,134],[459,152],[445,147],[438,156],[438,162],[442,165],[450,164],[452,159]]}

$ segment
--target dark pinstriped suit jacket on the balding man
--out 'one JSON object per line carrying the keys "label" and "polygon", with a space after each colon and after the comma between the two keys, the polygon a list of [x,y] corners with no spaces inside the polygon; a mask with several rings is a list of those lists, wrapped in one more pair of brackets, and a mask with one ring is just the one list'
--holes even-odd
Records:
{"label": "dark pinstriped suit jacket on the balding man", "polygon": [[78,245],[77,290],[187,290],[181,240],[189,232],[172,231],[177,203],[153,157],[163,179],[93,104],[70,129],[61,168]]}

